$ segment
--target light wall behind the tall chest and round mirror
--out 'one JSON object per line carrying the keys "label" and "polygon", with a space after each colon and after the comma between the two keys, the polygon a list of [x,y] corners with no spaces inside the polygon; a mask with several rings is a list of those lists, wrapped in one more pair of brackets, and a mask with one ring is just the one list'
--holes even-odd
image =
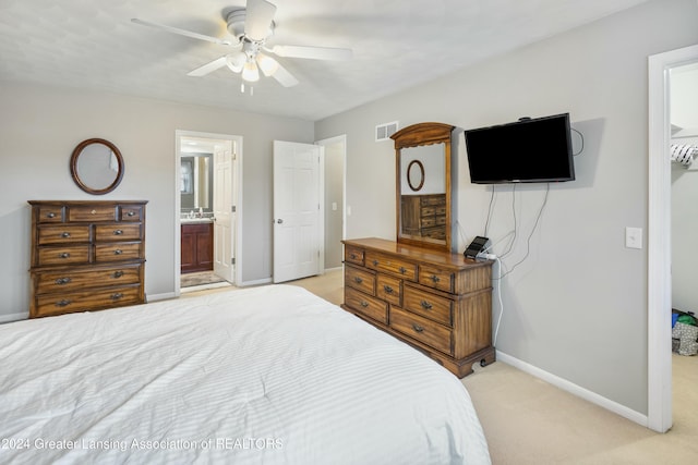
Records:
{"label": "light wall behind the tall chest and round mirror", "polygon": [[[2,83],[0,102],[0,318],[28,311],[29,199],[148,200],[145,291],[174,292],[176,130],[243,136],[242,279],[272,276],[273,139],[312,143],[311,122],[13,83]],[[105,196],[70,178],[73,148],[91,137],[111,140],[125,162]]]}

